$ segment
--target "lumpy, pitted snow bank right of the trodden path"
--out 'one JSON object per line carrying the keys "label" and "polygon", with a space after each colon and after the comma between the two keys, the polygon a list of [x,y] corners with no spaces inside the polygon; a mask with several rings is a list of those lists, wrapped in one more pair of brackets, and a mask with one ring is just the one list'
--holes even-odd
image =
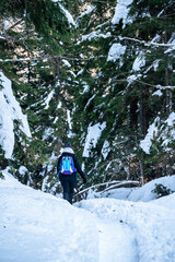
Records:
{"label": "lumpy, pitted snow bank right of the trodden path", "polygon": [[106,223],[113,222],[116,226],[121,223],[125,227],[129,227],[132,237],[135,236],[138,252],[138,260],[135,261],[175,261],[175,211],[167,212],[166,209],[152,203],[114,199],[82,201],[80,207],[94,213]]}

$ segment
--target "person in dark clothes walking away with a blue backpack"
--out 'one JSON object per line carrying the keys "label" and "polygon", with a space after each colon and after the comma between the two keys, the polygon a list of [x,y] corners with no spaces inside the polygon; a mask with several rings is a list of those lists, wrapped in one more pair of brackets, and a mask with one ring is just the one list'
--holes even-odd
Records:
{"label": "person in dark clothes walking away with a blue backpack", "polygon": [[61,156],[58,158],[57,174],[63,189],[63,199],[72,204],[73,189],[77,184],[78,172],[86,183],[86,178],[82,171],[79,162],[71,147],[71,143],[67,143]]}

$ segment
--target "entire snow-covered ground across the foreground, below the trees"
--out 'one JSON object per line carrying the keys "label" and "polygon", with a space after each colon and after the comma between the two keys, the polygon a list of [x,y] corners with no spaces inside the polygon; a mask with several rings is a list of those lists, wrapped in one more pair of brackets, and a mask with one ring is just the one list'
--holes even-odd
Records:
{"label": "entire snow-covered ground across the foreground, below the trees", "polygon": [[3,175],[1,262],[175,261],[175,193],[152,192],[155,183],[175,191],[175,176],[70,205]]}

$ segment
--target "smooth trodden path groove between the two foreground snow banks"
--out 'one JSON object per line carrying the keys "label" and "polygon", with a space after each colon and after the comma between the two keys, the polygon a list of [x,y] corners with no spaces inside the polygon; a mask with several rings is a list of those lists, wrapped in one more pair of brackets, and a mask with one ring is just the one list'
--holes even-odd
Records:
{"label": "smooth trodden path groove between the two foreground snow banks", "polygon": [[100,233],[98,262],[137,262],[137,243],[130,228],[122,223],[97,219]]}

